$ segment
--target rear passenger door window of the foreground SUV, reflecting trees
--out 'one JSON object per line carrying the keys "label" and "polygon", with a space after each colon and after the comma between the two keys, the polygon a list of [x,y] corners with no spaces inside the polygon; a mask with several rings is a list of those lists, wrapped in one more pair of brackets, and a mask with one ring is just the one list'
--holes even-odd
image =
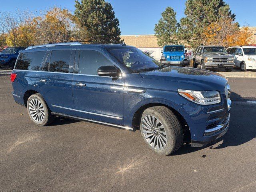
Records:
{"label": "rear passenger door window of the foreground SUV, reflecting trees", "polygon": [[49,71],[68,73],[71,50],[52,51]]}

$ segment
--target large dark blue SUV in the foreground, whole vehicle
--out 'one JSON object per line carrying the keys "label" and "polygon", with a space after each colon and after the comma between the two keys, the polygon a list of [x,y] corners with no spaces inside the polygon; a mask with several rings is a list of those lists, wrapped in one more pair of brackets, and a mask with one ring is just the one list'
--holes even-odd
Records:
{"label": "large dark blue SUV in the foreground, whole vehicle", "polygon": [[168,67],[125,44],[80,42],[22,50],[11,74],[13,98],[38,126],[56,116],[139,129],[160,155],[205,146],[228,130],[227,79],[201,69]]}

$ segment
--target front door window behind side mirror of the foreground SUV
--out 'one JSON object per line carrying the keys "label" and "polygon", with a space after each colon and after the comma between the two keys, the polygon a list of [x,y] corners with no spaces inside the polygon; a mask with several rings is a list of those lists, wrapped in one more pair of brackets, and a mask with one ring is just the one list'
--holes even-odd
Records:
{"label": "front door window behind side mirror of the foreground SUV", "polygon": [[78,74],[98,75],[101,66],[113,65],[104,55],[98,51],[81,50],[78,65]]}

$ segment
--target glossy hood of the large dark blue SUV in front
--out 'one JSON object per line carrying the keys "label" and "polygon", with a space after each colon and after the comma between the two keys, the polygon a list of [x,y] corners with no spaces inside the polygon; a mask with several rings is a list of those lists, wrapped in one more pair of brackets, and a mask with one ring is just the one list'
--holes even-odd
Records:
{"label": "glossy hood of the large dark blue SUV in front", "polygon": [[166,67],[159,70],[141,72],[142,78],[172,81],[172,84],[179,84],[181,89],[190,90],[219,90],[224,92],[227,78],[216,72],[185,68]]}

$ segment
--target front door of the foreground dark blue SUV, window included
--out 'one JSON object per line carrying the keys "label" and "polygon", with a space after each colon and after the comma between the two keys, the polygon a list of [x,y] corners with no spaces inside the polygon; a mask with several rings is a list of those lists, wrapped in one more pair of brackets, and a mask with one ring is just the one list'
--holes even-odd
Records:
{"label": "front door of the foreground dark blue SUV, window included", "polygon": [[77,50],[72,80],[76,116],[123,124],[124,77],[100,77],[100,66],[116,63],[102,50]]}

